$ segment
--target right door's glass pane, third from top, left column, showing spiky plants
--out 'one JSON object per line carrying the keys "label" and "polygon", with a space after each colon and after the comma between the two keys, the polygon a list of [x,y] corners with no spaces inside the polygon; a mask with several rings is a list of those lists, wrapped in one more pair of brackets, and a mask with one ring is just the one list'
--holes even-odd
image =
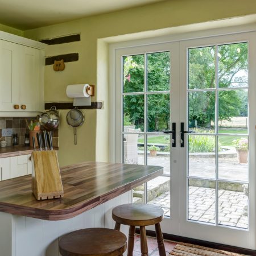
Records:
{"label": "right door's glass pane, third from top, left column, showing spiky plants", "polygon": [[215,179],[215,137],[212,135],[188,135],[188,175]]}

